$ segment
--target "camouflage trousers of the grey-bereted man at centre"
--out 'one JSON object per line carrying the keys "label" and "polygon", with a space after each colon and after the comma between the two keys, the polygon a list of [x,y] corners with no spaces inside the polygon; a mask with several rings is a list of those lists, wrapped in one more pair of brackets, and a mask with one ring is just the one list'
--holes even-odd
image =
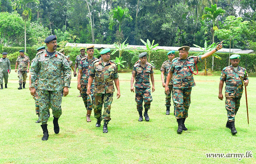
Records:
{"label": "camouflage trousers of the grey-bereted man at centre", "polygon": [[138,88],[135,87],[135,101],[137,103],[137,110],[142,111],[143,107],[143,100],[144,100],[144,108],[149,110],[150,104],[153,101],[151,96],[150,88]]}

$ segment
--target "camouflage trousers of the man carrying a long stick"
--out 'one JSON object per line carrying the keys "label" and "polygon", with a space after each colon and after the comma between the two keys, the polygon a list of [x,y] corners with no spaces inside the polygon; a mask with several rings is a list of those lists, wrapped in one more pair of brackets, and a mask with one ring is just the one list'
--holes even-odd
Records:
{"label": "camouflage trousers of the man carrying a long stick", "polygon": [[227,121],[235,121],[235,116],[240,106],[241,97],[226,97],[225,106],[227,110]]}

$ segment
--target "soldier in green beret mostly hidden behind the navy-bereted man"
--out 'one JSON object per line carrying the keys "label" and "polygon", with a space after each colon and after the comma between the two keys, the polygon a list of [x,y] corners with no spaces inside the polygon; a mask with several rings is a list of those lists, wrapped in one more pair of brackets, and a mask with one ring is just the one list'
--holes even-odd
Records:
{"label": "soldier in green beret mostly hidden behind the navy-bereted man", "polygon": [[[37,48],[37,53],[38,52],[41,52],[41,51],[44,51],[45,50],[45,46],[42,46],[42,47],[38,47]],[[34,60],[34,59],[33,59]],[[33,60],[31,61],[31,63],[33,62]],[[32,68],[31,68],[32,69]],[[35,95],[33,96],[34,100],[35,100],[35,114],[38,115],[38,120],[35,121],[35,123],[40,123],[40,109],[39,109],[39,102],[38,102],[38,89],[37,89],[37,81],[38,79],[35,80]],[[29,90],[31,91],[31,74],[29,75]],[[50,107],[49,107],[50,109]],[[50,117],[50,110],[48,109],[48,118]]]}

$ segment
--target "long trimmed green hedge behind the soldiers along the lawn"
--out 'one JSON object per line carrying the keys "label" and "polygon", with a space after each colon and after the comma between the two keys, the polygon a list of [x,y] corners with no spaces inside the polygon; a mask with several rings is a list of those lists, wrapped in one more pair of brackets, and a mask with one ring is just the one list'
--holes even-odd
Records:
{"label": "long trimmed green hedge behind the soldiers along the lawn", "polygon": [[[3,52],[8,52],[10,55],[12,55],[13,53],[19,51],[23,49],[24,47],[3,47]],[[57,51],[59,51],[61,48],[57,48]],[[73,48],[64,48],[64,51],[66,52],[66,55],[70,55],[70,59],[75,62],[75,58],[77,55],[80,54],[80,50],[78,47],[73,47]],[[111,50],[112,52],[113,50]],[[136,60],[136,57],[133,57],[135,55],[139,55],[141,52],[144,52],[143,50],[135,50],[134,53],[130,53],[128,51],[124,51],[122,56],[123,56],[123,60],[126,61],[126,63],[124,63],[126,65],[127,69],[132,69],[134,62]],[[195,55],[197,56],[198,52],[189,52],[189,56],[191,55]],[[27,55],[29,56],[30,60],[32,60],[35,56],[35,54],[37,54],[37,51],[31,47],[27,47]],[[156,62],[154,62],[155,68],[160,70],[160,67],[162,66],[162,63],[167,60],[167,51],[157,51],[157,52],[152,52],[150,58],[151,60],[157,60]],[[222,60],[219,60],[217,58],[214,59],[214,70],[215,71],[221,71],[224,67],[226,67],[228,65],[228,57],[229,57],[229,53],[217,53]],[[241,67],[246,67],[247,71],[249,73],[254,73],[256,72],[256,55],[255,54],[240,54],[241,55],[241,62],[240,62],[240,66]],[[7,55],[8,56],[8,55]],[[95,53],[94,53],[95,57],[99,56],[99,51],[97,49],[95,49]],[[175,51],[175,56],[178,57],[178,51]],[[111,60],[116,59],[116,57],[118,57],[118,51],[111,56]],[[246,59],[247,59],[247,63],[246,63]],[[16,59],[11,60],[11,64],[15,64]],[[211,69],[211,64],[212,64],[212,57],[208,57],[207,58],[207,69]],[[247,65],[247,66],[246,66]],[[204,61],[200,62],[197,64],[198,70],[204,70]]]}

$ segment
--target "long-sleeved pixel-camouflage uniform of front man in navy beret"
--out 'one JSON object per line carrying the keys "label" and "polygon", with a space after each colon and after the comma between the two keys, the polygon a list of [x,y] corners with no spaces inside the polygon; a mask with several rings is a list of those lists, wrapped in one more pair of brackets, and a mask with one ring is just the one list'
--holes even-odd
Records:
{"label": "long-sleeved pixel-camouflage uniform of front man in navy beret", "polygon": [[[63,86],[68,87],[69,64],[63,54],[58,51],[49,56],[45,51],[38,52],[31,64],[31,87],[35,87],[35,80],[38,78],[38,102],[40,106],[40,118],[42,124],[48,121],[49,105],[52,105],[54,117],[61,116],[61,91]],[[64,85],[60,77],[64,73]],[[38,77],[39,75],[39,77]]]}

